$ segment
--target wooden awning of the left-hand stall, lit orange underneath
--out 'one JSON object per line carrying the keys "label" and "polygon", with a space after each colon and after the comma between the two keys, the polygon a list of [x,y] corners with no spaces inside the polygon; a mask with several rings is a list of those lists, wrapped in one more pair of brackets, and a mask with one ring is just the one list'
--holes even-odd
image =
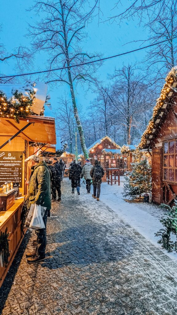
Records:
{"label": "wooden awning of the left-hand stall, lit orange underneath", "polygon": [[14,119],[0,118],[0,135],[12,136],[20,129],[32,123],[20,136],[32,142],[41,142],[48,144],[56,144],[55,119],[43,116],[31,115],[20,118],[20,123],[16,123]]}

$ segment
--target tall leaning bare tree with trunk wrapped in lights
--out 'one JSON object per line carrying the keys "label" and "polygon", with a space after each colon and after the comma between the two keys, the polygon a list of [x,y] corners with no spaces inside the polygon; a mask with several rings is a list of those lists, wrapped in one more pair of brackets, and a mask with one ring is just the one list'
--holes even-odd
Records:
{"label": "tall leaning bare tree with trunk wrapped in lights", "polygon": [[[36,52],[46,51],[49,54],[50,67],[62,67],[60,72],[50,72],[48,83],[66,83],[71,92],[71,100],[74,110],[77,128],[84,156],[88,157],[85,145],[83,127],[77,110],[75,89],[78,82],[86,82],[87,85],[94,80],[95,65],[79,66],[93,60],[95,55],[90,55],[81,47],[81,42],[86,39],[84,28],[90,18],[84,11],[86,0],[59,0],[36,1],[32,9],[44,17],[30,28],[33,39],[33,48]],[[77,67],[70,68],[71,65]],[[98,65],[97,65],[98,66]]]}

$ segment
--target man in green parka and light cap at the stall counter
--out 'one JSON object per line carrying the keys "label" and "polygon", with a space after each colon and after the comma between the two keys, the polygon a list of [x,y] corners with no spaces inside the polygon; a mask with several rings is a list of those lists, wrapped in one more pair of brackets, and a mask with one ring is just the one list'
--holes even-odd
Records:
{"label": "man in green parka and light cap at the stall counter", "polygon": [[46,224],[47,217],[50,216],[51,209],[51,190],[50,190],[50,173],[44,158],[36,155],[31,155],[25,162],[28,162],[28,167],[31,169],[31,176],[28,183],[28,209],[31,204],[41,205],[45,207],[43,222],[45,228],[35,230],[37,234],[37,247],[32,253],[27,253],[28,263],[36,263],[45,259],[45,248],[47,244]]}

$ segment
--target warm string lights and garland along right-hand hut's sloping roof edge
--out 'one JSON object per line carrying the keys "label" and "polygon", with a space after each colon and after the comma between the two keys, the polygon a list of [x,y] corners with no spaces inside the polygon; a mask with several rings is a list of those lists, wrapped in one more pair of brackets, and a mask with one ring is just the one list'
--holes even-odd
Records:
{"label": "warm string lights and garland along right-hand hut's sloping roof edge", "polygon": [[156,106],[153,109],[152,118],[149,121],[149,124],[141,137],[141,141],[139,144],[139,147],[141,149],[145,148],[147,146],[147,140],[151,139],[149,138],[149,136],[153,134],[153,131],[154,131],[153,129],[156,129],[155,123],[158,123],[157,119],[162,111],[162,108],[166,108],[166,104],[168,103],[169,97],[171,96],[169,95],[169,93],[170,91],[174,90],[173,83],[176,80],[177,80],[177,68],[174,67],[171,69],[171,71],[168,73],[165,79],[165,84],[163,86],[163,89],[161,90],[160,97],[157,99]]}

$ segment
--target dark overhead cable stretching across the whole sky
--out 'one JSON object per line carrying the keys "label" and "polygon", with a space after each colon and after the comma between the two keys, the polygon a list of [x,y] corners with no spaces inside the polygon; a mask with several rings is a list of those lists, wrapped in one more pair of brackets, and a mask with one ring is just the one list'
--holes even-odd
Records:
{"label": "dark overhead cable stretching across the whole sky", "polygon": [[3,76],[3,77],[0,77],[0,79],[10,78],[10,77],[28,76],[28,75],[32,75],[32,74],[39,74],[39,73],[45,73],[45,72],[52,72],[52,71],[58,71],[58,70],[62,70],[62,69],[75,68],[75,67],[79,67],[79,66],[89,65],[89,64],[91,64],[91,63],[95,63],[95,62],[100,62],[100,61],[112,59],[112,58],[119,57],[119,56],[123,56],[123,55],[126,55],[126,54],[131,54],[131,53],[134,53],[135,51],[139,51],[139,50],[142,50],[142,49],[146,49],[146,48],[149,48],[149,47],[152,47],[152,46],[155,46],[155,45],[159,45],[159,44],[165,43],[165,42],[169,41],[170,39],[174,39],[174,38],[177,38],[177,36],[171,37],[171,38],[168,38],[168,39],[165,39],[165,40],[163,40],[163,41],[161,41],[161,42],[158,42],[158,43],[154,43],[154,44],[147,45],[147,46],[144,46],[144,47],[141,47],[141,48],[137,48],[137,49],[134,49],[134,50],[130,50],[130,51],[127,51],[127,52],[125,52],[125,53],[121,53],[121,54],[117,54],[117,55],[114,55],[114,56],[105,57],[105,58],[101,58],[101,59],[97,59],[97,60],[91,60],[91,61],[83,62],[83,63],[80,63],[80,64],[78,64],[78,65],[71,65],[71,66],[66,66],[66,67],[61,67],[61,68],[56,68],[56,69],[49,69],[49,70],[43,70],[43,71],[37,71],[37,72],[30,72],[30,73],[14,74],[14,75],[10,75],[10,76]]}

